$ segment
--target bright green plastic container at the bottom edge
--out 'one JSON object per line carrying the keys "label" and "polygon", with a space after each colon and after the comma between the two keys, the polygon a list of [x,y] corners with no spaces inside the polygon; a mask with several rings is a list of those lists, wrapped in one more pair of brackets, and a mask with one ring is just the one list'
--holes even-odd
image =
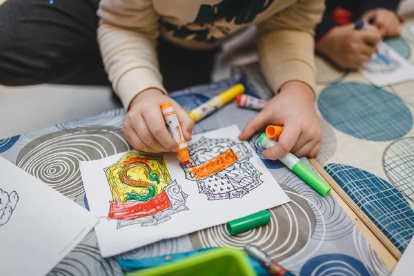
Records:
{"label": "bright green plastic container at the bottom edge", "polygon": [[157,266],[128,273],[126,276],[256,276],[246,253],[230,248],[216,248]]}

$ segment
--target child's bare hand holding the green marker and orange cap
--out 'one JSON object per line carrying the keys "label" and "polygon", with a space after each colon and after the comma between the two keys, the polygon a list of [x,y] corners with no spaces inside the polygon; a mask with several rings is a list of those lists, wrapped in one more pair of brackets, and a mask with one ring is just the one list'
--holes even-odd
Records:
{"label": "child's bare hand holding the green marker and orange cap", "polygon": [[248,122],[239,139],[246,140],[268,125],[284,126],[278,143],[270,150],[264,150],[264,157],[275,160],[288,152],[297,156],[314,157],[322,142],[322,128],[314,100],[312,89],[305,83],[285,83],[262,112]]}

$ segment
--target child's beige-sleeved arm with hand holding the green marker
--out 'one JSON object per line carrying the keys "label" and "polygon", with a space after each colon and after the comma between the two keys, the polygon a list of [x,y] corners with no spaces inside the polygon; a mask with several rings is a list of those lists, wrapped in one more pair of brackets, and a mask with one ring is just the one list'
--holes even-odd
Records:
{"label": "child's beige-sleeved arm with hand holding the green marker", "polygon": [[279,92],[246,126],[248,139],[268,124],[284,125],[279,143],[264,155],[278,159],[287,152],[314,156],[322,130],[315,112],[313,28],[321,19],[324,0],[302,0],[259,26],[259,59],[273,92]]}

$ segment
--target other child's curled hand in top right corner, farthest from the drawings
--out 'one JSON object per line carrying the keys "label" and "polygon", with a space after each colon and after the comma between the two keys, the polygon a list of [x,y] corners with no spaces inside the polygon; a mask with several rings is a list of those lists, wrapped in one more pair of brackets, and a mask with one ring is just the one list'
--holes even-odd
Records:
{"label": "other child's curled hand in top right corner, farthest from the drawings", "polygon": [[398,37],[401,34],[400,19],[397,14],[384,8],[367,10],[361,19],[368,22],[374,19],[373,26],[377,27],[382,37]]}

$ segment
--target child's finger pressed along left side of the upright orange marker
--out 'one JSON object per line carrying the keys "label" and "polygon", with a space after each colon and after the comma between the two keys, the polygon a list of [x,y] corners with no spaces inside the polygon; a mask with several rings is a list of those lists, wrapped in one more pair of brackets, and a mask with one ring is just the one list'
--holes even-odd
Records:
{"label": "child's finger pressed along left side of the upright orange marker", "polygon": [[178,150],[177,142],[172,139],[170,132],[168,132],[166,122],[159,108],[157,110],[143,110],[142,117],[152,135],[166,148],[166,151]]}

